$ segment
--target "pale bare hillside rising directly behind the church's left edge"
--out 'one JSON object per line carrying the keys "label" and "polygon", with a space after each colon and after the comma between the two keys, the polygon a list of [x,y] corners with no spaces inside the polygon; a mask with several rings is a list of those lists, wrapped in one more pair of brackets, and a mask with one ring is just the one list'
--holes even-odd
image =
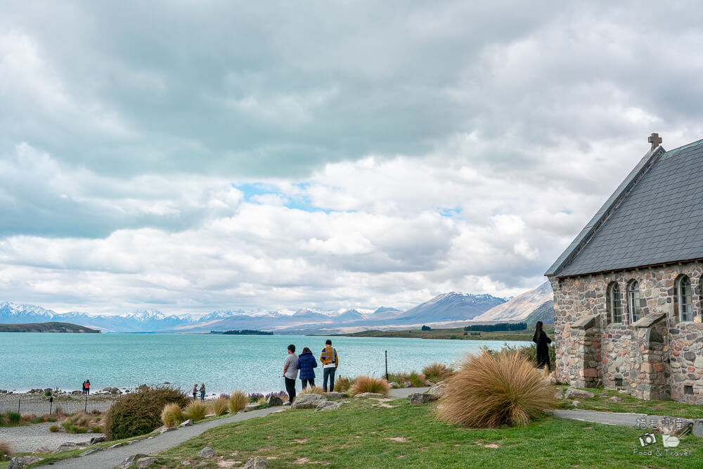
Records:
{"label": "pale bare hillside rising directly behind the church's left edge", "polygon": [[537,321],[546,324],[554,323],[554,294],[549,282],[539,285],[518,295],[512,300],[489,309],[484,314],[476,316],[476,322],[515,321],[527,322],[528,326]]}

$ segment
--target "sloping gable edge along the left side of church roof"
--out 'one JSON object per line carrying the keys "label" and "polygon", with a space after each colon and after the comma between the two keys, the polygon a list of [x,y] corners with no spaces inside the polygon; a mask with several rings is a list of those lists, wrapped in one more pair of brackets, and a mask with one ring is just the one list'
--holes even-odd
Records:
{"label": "sloping gable edge along the left side of church roof", "polygon": [[572,243],[566,248],[562,255],[560,255],[557,260],[547,269],[545,272],[546,276],[556,276],[559,271],[565,268],[576,255],[583,250],[583,248],[588,244],[588,241],[593,238],[596,231],[602,226],[603,223],[612,215],[612,213],[619,207],[622,201],[626,198],[628,193],[632,191],[637,182],[644,176],[652,164],[661,155],[666,154],[666,150],[662,146],[657,146],[649,150],[643,158],[638,162],[638,164],[632,169],[632,171],[627,175],[624,181],[615,189],[614,193],[610,195],[605,203],[600,207],[600,210],[593,215],[591,221],[581,230],[578,236],[572,241]]}

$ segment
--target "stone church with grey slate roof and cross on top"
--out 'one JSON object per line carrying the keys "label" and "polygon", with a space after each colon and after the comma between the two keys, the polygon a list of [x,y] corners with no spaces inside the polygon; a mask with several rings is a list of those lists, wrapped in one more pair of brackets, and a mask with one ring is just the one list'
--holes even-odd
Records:
{"label": "stone church with grey slate roof and cross on top", "polygon": [[703,404],[703,140],[650,151],[546,276],[556,376]]}

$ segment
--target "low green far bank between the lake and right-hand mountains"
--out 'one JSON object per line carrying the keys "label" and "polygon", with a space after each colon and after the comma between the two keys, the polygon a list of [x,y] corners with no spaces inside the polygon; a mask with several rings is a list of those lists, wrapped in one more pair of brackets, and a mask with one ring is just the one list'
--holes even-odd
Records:
{"label": "low green far bank between the lake and right-hand mountains", "polygon": [[[554,338],[554,325],[545,324],[544,330]],[[353,334],[338,334],[346,337],[388,337],[416,339],[451,339],[451,340],[532,340],[534,328],[526,330],[499,330],[496,332],[466,332],[464,328],[450,329],[407,329],[407,330],[363,330]]]}

